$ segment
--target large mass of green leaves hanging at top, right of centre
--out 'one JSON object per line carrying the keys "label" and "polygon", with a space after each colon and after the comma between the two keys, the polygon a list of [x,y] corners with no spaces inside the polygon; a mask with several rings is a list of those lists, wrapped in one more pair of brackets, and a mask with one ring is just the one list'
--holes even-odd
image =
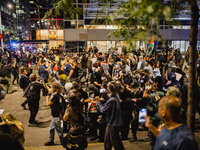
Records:
{"label": "large mass of green leaves hanging at top, right of centre", "polygon": [[[107,7],[112,3],[112,0],[106,3]],[[166,24],[169,27],[172,24],[180,25],[177,20],[172,19],[177,12],[183,9],[180,3],[181,1],[176,0],[167,2],[164,0],[129,0],[128,3],[121,2],[117,11],[104,16],[102,20],[106,25],[118,25],[119,27],[110,33],[109,37],[125,39],[130,46],[133,46],[132,41],[150,40],[153,35],[156,40],[161,41],[163,39],[158,32],[160,24]],[[92,21],[92,24],[98,24],[98,22],[100,22],[99,15]]]}

